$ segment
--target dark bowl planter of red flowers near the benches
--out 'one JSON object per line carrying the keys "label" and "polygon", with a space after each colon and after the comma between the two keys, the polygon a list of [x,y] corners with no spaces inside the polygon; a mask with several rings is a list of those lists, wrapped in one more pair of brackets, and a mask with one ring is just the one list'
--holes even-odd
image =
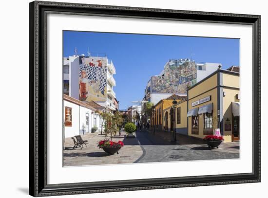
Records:
{"label": "dark bowl planter of red flowers near the benches", "polygon": [[102,140],[98,142],[98,147],[102,148],[109,155],[113,155],[115,153],[118,154],[118,150],[124,146],[122,141],[113,142],[109,140]]}

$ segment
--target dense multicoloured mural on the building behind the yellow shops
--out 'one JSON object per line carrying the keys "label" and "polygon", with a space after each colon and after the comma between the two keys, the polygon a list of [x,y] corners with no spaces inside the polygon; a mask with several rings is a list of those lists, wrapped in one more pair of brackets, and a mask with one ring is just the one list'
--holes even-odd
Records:
{"label": "dense multicoloured mural on the building behind the yellow shops", "polygon": [[152,76],[152,92],[186,93],[196,83],[196,63],[191,60],[170,60],[162,76]]}

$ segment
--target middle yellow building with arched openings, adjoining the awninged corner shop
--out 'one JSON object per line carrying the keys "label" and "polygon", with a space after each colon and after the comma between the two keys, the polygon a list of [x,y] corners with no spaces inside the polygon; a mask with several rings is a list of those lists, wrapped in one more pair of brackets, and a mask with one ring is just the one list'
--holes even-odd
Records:
{"label": "middle yellow building with arched openings, adjoining the awninged corner shop", "polygon": [[[175,119],[173,119],[175,117]],[[187,129],[187,99],[179,101],[174,107],[163,110],[163,128],[173,131],[175,122],[176,133],[188,135]]]}

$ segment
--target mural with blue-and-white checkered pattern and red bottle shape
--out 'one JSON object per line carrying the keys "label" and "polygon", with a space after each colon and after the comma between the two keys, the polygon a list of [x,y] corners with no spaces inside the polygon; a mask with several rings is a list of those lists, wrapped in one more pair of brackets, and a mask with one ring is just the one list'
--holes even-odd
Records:
{"label": "mural with blue-and-white checkered pattern and red bottle shape", "polygon": [[106,101],[107,63],[102,57],[83,57],[79,68],[79,99]]}

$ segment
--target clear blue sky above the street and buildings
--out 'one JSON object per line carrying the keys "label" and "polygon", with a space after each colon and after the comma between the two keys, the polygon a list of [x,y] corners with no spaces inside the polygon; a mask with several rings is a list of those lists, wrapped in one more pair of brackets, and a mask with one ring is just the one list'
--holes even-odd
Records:
{"label": "clear blue sky above the street and buildings", "polygon": [[221,63],[223,69],[239,66],[239,39],[159,36],[94,32],[63,32],[63,56],[90,52],[107,54],[115,65],[114,87],[119,108],[142,100],[152,75],[169,59],[192,58],[196,62]]}

